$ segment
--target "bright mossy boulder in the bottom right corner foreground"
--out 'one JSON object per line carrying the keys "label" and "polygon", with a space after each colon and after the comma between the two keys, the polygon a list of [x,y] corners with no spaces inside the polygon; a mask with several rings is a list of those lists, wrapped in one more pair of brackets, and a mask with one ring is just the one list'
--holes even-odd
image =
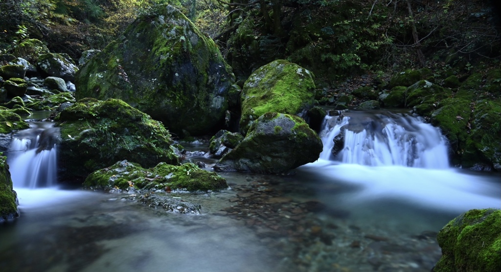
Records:
{"label": "bright mossy boulder in the bottom right corner foreground", "polygon": [[473,209],[437,235],[442,257],[434,272],[501,271],[501,210]]}

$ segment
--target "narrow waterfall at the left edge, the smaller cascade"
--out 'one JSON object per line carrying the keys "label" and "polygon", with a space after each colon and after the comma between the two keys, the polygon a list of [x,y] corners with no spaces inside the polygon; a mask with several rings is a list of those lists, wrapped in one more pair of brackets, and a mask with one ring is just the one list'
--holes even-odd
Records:
{"label": "narrow waterfall at the left edge, the smaller cascade", "polygon": [[51,187],[57,183],[59,128],[49,122],[30,122],[31,128],[14,134],[7,162],[15,187]]}

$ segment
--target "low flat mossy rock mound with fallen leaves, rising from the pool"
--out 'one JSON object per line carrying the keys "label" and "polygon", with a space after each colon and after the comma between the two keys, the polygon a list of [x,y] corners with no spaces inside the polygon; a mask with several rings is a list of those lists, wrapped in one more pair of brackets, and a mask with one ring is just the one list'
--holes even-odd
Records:
{"label": "low flat mossy rock mound with fallen leaves, rising from the pool", "polygon": [[85,187],[128,190],[131,187],[147,190],[219,191],[226,189],[226,180],[214,172],[198,168],[193,163],[180,166],[161,162],[145,169],[126,160],[91,173],[84,182]]}

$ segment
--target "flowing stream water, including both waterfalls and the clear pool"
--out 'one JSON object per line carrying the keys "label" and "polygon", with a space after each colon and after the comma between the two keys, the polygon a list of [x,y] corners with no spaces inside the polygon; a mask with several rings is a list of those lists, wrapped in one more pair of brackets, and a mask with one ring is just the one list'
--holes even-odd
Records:
{"label": "flowing stream water, including both waterfalls and the clear pool", "polygon": [[[296,175],[220,173],[227,190],[169,194],[201,204],[201,214],[154,210],[132,193],[58,187],[48,170],[35,182],[43,188],[30,188],[36,165],[57,167],[55,146],[42,140],[38,153],[9,155],[21,217],[0,225],[1,270],[424,272],[441,255],[435,237],[449,220],[501,207],[501,176],[450,168],[445,138],[418,117],[326,117],[321,136],[321,159]],[[39,148],[31,143],[41,138],[11,148]],[[206,170],[216,162],[191,157]]]}

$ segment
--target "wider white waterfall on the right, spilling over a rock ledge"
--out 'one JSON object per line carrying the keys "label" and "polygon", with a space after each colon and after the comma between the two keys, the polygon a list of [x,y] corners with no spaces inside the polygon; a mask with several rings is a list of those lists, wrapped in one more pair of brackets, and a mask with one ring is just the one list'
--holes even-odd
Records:
{"label": "wider white waterfall on the right, spilling over a rock ledge", "polygon": [[447,140],[423,118],[383,111],[326,116],[321,159],[367,166],[448,168]]}

